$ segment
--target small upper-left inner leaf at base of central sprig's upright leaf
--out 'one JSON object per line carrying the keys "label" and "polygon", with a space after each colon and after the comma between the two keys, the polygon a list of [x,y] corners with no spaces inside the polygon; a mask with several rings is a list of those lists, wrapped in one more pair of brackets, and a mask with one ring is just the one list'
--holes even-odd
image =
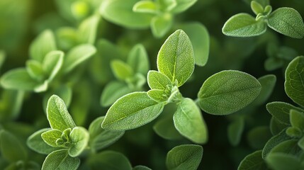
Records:
{"label": "small upper-left inner leaf at base of central sprig's upright leaf", "polygon": [[150,70],[147,74],[147,81],[150,89],[157,89],[157,90],[166,90],[168,86],[171,86],[170,79],[162,74],[162,72],[157,72],[154,70]]}

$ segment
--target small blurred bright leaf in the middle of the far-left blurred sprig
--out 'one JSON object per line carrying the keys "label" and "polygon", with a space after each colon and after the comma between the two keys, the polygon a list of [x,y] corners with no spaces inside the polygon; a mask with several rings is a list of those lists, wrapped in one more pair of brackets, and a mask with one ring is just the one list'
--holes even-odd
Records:
{"label": "small blurred bright leaf in the middle of the far-left blurred sprig", "polygon": [[26,61],[26,71],[32,79],[37,81],[43,81],[45,79],[45,72],[43,71],[43,65],[36,60]]}

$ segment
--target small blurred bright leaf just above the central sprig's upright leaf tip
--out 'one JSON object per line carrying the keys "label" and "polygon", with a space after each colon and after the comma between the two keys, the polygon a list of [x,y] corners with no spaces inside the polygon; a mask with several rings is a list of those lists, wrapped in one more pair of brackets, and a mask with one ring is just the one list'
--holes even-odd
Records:
{"label": "small blurred bright leaf just above the central sprig's upright leaf tip", "polygon": [[170,30],[173,23],[173,16],[171,13],[164,13],[152,18],[151,30],[156,38],[162,38]]}

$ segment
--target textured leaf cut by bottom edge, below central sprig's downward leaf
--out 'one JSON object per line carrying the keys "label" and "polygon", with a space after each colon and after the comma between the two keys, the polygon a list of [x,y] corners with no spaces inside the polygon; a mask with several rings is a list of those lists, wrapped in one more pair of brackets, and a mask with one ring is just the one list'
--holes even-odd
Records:
{"label": "textured leaf cut by bottom edge, below central sprig's downward leaf", "polygon": [[167,169],[196,170],[203,157],[203,147],[200,145],[180,145],[171,149],[167,154]]}

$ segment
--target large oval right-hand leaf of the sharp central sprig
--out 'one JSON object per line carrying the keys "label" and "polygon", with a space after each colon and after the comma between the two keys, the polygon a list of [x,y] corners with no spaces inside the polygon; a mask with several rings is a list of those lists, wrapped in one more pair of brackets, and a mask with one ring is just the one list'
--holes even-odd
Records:
{"label": "large oval right-hand leaf of the sharp central sprig", "polygon": [[227,115],[252,103],[261,84],[250,74],[226,70],[206,79],[198,92],[198,105],[206,113]]}

